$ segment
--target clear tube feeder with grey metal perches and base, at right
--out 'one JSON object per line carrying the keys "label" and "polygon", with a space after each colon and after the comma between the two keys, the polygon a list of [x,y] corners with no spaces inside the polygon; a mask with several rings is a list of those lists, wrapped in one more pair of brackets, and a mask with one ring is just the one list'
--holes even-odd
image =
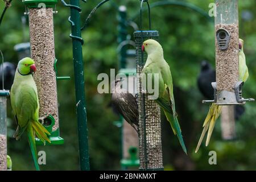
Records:
{"label": "clear tube feeder with grey metal perches and base, at right", "polygon": [[242,98],[243,82],[239,78],[238,0],[216,0],[216,105],[242,105],[253,99]]}

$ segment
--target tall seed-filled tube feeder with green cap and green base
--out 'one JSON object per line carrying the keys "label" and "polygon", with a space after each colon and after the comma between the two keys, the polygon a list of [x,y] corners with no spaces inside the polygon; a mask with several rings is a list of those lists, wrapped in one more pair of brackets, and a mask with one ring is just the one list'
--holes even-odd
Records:
{"label": "tall seed-filled tube feeder with green cap and green base", "polygon": [[[31,57],[37,71],[34,80],[38,88],[39,117],[42,124],[51,133],[51,144],[63,144],[59,136],[59,115],[57,104],[56,71],[54,68],[55,47],[53,34],[53,7],[57,0],[23,0],[28,8],[30,24]],[[43,144],[36,139],[36,144]],[[46,143],[50,144],[50,143]]]}

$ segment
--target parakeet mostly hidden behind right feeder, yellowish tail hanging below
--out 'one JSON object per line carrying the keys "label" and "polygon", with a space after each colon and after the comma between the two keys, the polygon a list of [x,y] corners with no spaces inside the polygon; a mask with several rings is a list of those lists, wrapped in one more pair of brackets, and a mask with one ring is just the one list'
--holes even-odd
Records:
{"label": "parakeet mostly hidden behind right feeder, yellowish tail hanging below", "polygon": [[[245,82],[248,77],[249,77],[249,72],[246,66],[245,53],[243,53],[243,40],[239,39],[239,80]],[[208,130],[208,134],[207,134],[207,141],[205,143],[205,146],[208,146],[210,142],[210,137],[212,136],[215,122],[221,113],[221,109],[222,109],[222,106],[220,105],[215,105],[214,103],[210,105],[209,112],[204,121],[204,125],[203,125],[204,129],[199,139],[199,142],[197,144],[195,152],[199,150],[199,147],[204,139],[205,133],[207,133],[207,130]]]}

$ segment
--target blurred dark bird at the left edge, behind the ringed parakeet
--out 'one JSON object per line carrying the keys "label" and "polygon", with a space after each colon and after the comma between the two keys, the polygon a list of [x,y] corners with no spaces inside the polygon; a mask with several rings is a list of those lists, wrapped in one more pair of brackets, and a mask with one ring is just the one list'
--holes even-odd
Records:
{"label": "blurred dark bird at the left edge, behind the ringed parakeet", "polygon": [[[9,62],[4,62],[0,65],[0,89],[3,89],[3,83],[6,90],[11,89],[11,85],[13,85],[14,75],[16,71],[16,65]],[[3,73],[3,77],[2,77]],[[4,82],[3,82],[4,78]]]}

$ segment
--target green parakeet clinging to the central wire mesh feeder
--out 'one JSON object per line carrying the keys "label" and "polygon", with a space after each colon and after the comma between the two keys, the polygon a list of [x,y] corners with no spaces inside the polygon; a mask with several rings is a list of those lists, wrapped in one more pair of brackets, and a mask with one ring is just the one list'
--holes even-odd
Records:
{"label": "green parakeet clinging to the central wire mesh feeder", "polygon": [[187,154],[175,109],[174,86],[172,84],[170,66],[166,60],[164,60],[163,48],[156,40],[149,39],[143,42],[142,51],[146,51],[148,55],[146,64],[142,69],[142,77],[148,74],[158,74],[159,97],[155,101],[164,110],[164,114],[171,124],[172,131],[177,135],[183,151]]}

